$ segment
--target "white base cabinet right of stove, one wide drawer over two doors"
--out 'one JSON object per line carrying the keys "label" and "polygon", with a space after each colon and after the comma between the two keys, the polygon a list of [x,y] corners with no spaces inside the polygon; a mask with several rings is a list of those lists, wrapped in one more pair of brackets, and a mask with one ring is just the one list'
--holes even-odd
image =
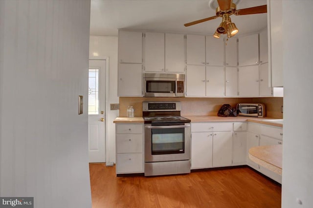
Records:
{"label": "white base cabinet right of stove, one wide drawer over two doors", "polygon": [[[199,169],[231,165],[231,130],[231,122],[191,123],[191,168]],[[200,147],[201,140],[205,141],[204,147]],[[204,157],[203,154],[197,153],[198,148],[202,152],[207,151],[207,153],[204,153]]]}

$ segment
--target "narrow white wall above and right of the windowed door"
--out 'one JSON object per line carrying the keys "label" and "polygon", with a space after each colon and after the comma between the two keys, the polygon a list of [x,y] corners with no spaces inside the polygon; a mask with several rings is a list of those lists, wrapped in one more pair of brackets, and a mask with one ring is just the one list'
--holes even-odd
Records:
{"label": "narrow white wall above and right of the windowed door", "polygon": [[[89,59],[109,58],[109,105],[119,102],[117,97],[117,40],[117,36],[90,36]],[[106,162],[109,164],[115,162],[115,124],[113,120],[118,116],[118,110],[110,111],[110,106],[107,106],[106,111],[108,114]]]}

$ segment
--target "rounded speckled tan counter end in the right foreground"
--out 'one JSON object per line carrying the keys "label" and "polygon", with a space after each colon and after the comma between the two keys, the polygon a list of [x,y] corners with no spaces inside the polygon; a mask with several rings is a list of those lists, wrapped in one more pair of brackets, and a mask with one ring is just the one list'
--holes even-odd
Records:
{"label": "rounded speckled tan counter end in the right foreground", "polygon": [[257,146],[249,149],[249,159],[282,175],[283,145]]}

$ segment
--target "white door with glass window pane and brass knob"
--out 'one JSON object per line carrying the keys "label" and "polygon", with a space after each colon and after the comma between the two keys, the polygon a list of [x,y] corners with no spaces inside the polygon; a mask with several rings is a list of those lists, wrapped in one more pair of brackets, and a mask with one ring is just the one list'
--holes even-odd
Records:
{"label": "white door with glass window pane and brass knob", "polygon": [[105,162],[106,60],[89,60],[89,162]]}

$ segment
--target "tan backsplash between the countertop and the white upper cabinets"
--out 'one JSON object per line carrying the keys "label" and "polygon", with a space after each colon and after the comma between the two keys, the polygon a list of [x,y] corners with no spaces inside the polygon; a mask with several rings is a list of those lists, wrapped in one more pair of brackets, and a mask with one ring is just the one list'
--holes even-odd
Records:
{"label": "tan backsplash between the countertop and the white upper cabinets", "polygon": [[216,98],[216,97],[120,97],[119,116],[127,116],[127,107],[134,107],[134,116],[142,116],[143,101],[180,101],[181,116],[217,116],[223,104],[236,107],[237,103],[263,103],[268,117],[283,118],[283,97]]}

